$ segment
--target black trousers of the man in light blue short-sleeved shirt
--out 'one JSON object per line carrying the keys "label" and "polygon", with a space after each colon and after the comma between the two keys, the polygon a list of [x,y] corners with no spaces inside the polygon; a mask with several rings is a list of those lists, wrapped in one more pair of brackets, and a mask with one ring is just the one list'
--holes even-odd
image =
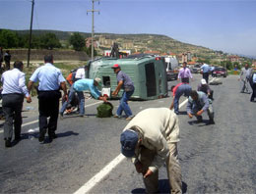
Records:
{"label": "black trousers of the man in light blue short-sleeved shirt", "polygon": [[[38,91],[39,131],[51,135],[57,129],[60,91]],[[47,118],[49,119],[49,123]]]}

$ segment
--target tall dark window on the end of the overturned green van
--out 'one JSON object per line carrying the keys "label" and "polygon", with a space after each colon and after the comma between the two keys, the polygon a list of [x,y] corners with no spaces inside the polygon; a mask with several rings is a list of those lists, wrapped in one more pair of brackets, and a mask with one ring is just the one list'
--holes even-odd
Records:
{"label": "tall dark window on the end of the overturned green van", "polygon": [[154,63],[145,65],[147,96],[157,95],[156,73]]}

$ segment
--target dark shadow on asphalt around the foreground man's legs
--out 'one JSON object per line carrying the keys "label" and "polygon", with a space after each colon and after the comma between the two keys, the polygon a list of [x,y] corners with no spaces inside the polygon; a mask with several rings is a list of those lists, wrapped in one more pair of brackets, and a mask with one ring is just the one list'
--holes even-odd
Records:
{"label": "dark shadow on asphalt around the foreground man's legs", "polygon": [[[169,181],[168,179],[161,179],[159,180],[159,192],[158,193],[169,193],[170,187],[169,187]],[[185,182],[182,182],[182,193],[187,192],[187,184]],[[133,194],[142,194],[146,193],[146,189],[144,188],[136,188],[131,191]]]}

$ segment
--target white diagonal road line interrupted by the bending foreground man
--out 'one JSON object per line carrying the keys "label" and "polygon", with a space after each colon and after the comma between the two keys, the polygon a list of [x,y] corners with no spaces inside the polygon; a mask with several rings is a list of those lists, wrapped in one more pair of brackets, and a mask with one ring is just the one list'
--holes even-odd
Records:
{"label": "white diagonal road line interrupted by the bending foreground man", "polygon": [[[211,81],[216,79],[213,78]],[[183,107],[187,103],[188,99],[184,100],[179,108]],[[86,182],[82,187],[80,187],[74,194],[85,194],[88,193],[91,189],[93,189],[96,184],[102,180],[111,170],[116,168],[118,164],[120,164],[125,157],[122,154],[119,154],[114,160],[112,160],[107,166],[105,166],[102,170],[98,171],[95,176],[93,176],[88,182]]]}

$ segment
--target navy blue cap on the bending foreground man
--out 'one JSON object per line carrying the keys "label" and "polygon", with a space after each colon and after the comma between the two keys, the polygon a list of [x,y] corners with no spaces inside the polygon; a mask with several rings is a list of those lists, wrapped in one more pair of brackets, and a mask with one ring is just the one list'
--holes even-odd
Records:
{"label": "navy blue cap on the bending foreground man", "polygon": [[130,158],[134,156],[138,140],[138,134],[134,130],[127,129],[122,132],[120,137],[121,152],[125,157]]}

